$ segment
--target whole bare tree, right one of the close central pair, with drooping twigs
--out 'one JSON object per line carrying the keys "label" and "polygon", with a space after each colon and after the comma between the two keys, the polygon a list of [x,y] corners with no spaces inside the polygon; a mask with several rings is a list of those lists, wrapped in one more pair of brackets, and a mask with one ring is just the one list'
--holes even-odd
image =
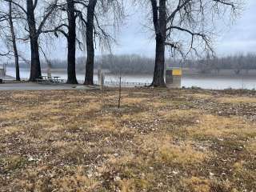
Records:
{"label": "whole bare tree, right one of the close central pair, with drooping twigs", "polygon": [[[98,6],[97,6],[98,2]],[[110,15],[110,12],[112,15]],[[99,18],[108,16],[114,18],[113,23],[100,23]],[[110,50],[110,44],[114,38],[106,32],[103,26],[115,26],[118,28],[124,18],[122,0],[89,0],[86,17],[86,78],[85,85],[94,84],[94,46],[96,37]],[[110,20],[110,19],[109,19]]]}

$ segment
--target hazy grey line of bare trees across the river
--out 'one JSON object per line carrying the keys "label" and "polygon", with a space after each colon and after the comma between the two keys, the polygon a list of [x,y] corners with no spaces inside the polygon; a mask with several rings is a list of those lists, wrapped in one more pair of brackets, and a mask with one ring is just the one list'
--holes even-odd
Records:
{"label": "hazy grey line of bare trees across the river", "polygon": [[[42,68],[48,67],[46,61],[42,61]],[[51,68],[56,70],[66,69],[66,61],[60,59],[50,60]],[[85,70],[86,58],[77,58],[77,70]],[[8,66],[15,66],[9,63]],[[28,63],[21,62],[22,68],[30,68]],[[118,69],[122,74],[153,74],[154,58],[147,58],[138,54],[102,55],[96,56],[94,61],[95,70],[101,68],[114,74]],[[198,70],[198,73],[218,74],[221,70],[233,70],[234,74],[240,74],[242,70],[256,70],[256,54],[235,54],[226,57],[206,57],[203,59],[166,59],[167,67],[182,67]],[[94,71],[95,72],[95,71]]]}

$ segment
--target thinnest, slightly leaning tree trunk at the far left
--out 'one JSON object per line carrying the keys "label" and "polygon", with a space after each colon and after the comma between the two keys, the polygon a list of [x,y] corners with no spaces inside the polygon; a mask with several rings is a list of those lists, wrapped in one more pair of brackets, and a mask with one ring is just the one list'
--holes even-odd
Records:
{"label": "thinnest, slightly leaning tree trunk at the far left", "polygon": [[14,32],[14,22],[12,18],[12,2],[9,2],[9,24],[10,24],[10,34],[12,38],[11,41],[13,44],[14,58],[15,58],[16,81],[20,81],[21,78],[19,76],[18,49],[16,44],[15,32]]}

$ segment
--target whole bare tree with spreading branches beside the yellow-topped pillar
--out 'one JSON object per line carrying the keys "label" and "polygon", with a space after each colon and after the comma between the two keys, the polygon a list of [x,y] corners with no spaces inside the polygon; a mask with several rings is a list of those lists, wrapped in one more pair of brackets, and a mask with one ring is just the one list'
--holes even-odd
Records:
{"label": "whole bare tree with spreading branches beside the yellow-topped pillar", "polygon": [[214,29],[210,29],[210,21],[214,22],[216,16],[236,14],[238,9],[236,0],[150,0],[150,6],[156,41],[152,86],[166,86],[166,46],[183,58],[190,52],[198,54],[198,50],[213,52]]}

